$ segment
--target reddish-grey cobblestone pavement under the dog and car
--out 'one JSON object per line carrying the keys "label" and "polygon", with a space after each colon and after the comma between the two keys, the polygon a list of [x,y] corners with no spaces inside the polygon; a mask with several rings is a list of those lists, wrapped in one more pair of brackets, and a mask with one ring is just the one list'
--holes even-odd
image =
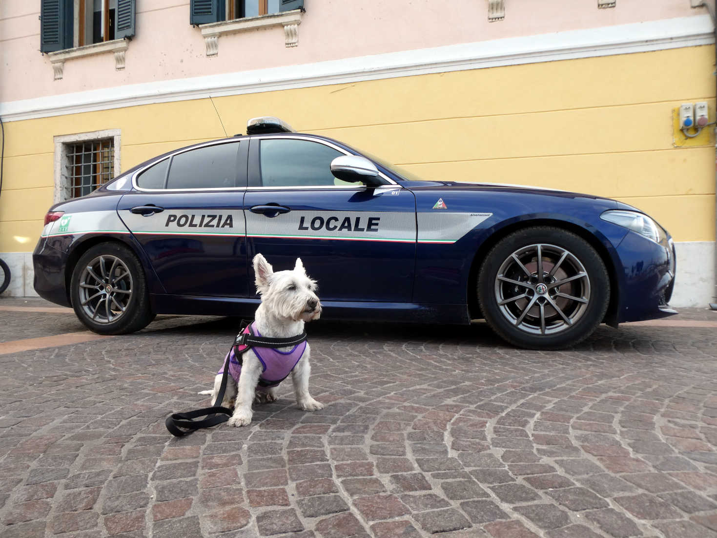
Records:
{"label": "reddish-grey cobblestone pavement under the dog and car", "polygon": [[[82,330],[1,310],[0,341]],[[480,324],[320,322],[324,410],[286,382],[247,428],[172,438],[164,418],[208,405],[235,325],[163,318],[1,354],[0,535],[717,537],[714,327],[601,327],[537,352]]]}

